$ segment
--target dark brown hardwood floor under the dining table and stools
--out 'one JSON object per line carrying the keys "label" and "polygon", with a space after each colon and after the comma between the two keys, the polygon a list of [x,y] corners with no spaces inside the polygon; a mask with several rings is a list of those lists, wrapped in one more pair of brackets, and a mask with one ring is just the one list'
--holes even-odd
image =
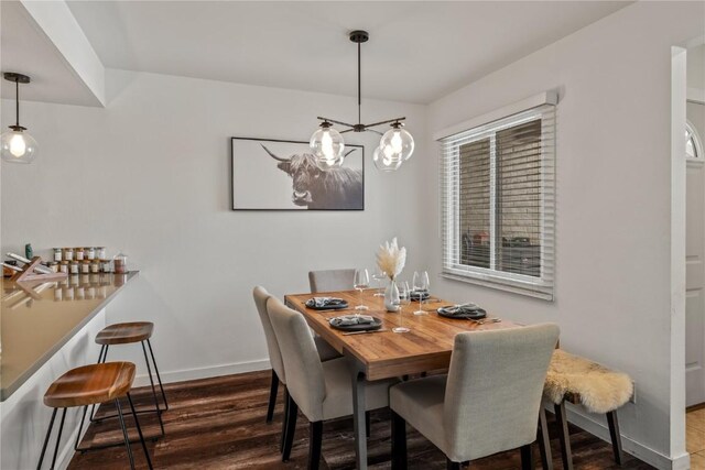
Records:
{"label": "dark brown hardwood floor under the dining table and stools", "polygon": [[[282,419],[282,397],[272,424],[264,423],[269,394],[270,372],[253,372],[239,375],[172,383],[165,386],[170,409],[164,413],[166,436],[149,442],[154,468],[169,469],[303,469],[308,452],[308,426],[300,416],[291,460],[282,463],[279,439]],[[147,389],[133,392],[138,407],[150,403]],[[141,406],[140,406],[141,405]],[[105,413],[112,411],[99,412]],[[552,416],[549,415],[552,422]],[[159,424],[153,414],[140,415],[140,423],[148,436],[159,434]],[[131,419],[128,426],[132,426]],[[551,423],[554,466],[561,469],[556,429]],[[131,429],[131,437],[137,431]],[[93,424],[83,445],[101,444],[121,438],[118,424],[108,419]],[[575,469],[651,469],[631,456],[626,456],[622,467],[612,461],[611,447],[603,440],[572,428]],[[390,422],[388,411],[372,413],[371,435],[368,441],[370,468],[390,468]],[[132,446],[138,468],[147,468],[142,449]],[[536,449],[538,450],[538,449]],[[539,452],[535,451],[540,468]],[[128,468],[124,447],[89,451],[76,455],[69,469],[123,469]],[[431,442],[416,431],[409,430],[409,467],[413,469],[445,469],[445,458]],[[473,461],[477,470],[517,470],[519,451],[498,453]],[[338,419],[324,425],[322,469],[352,469],[352,422]]]}

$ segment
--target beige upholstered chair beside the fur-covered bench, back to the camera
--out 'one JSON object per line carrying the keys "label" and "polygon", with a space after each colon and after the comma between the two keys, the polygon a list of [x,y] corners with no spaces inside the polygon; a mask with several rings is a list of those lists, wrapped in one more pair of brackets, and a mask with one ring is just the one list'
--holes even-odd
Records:
{"label": "beige upholstered chair beside the fur-covered bench, back to the camera", "polygon": [[392,468],[406,468],[409,423],[446,455],[449,469],[517,448],[522,470],[533,469],[531,446],[557,340],[553,324],[457,335],[447,375],[389,391]]}

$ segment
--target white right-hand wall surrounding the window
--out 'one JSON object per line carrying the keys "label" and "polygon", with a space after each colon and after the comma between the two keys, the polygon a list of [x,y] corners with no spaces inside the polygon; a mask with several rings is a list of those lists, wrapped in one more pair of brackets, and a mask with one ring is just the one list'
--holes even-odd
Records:
{"label": "white right-hand wall surrounding the window", "polygon": [[[662,468],[686,461],[684,429],[674,428],[671,442],[670,416],[671,401],[682,398],[671,390],[671,46],[702,34],[704,9],[636,3],[433,102],[429,113],[432,135],[560,92],[555,302],[440,277],[436,292],[518,321],[556,321],[566,350],[631,374],[637,404],[620,411],[625,445]],[[429,154],[427,171],[437,174],[435,142]],[[437,225],[424,227],[440,273]]]}

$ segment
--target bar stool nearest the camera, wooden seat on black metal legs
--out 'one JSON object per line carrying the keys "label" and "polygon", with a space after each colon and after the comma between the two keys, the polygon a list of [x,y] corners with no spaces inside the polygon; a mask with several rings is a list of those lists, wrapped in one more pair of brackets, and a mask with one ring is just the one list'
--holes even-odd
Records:
{"label": "bar stool nearest the camera, wooden seat on black metal legs", "polygon": [[[134,469],[134,457],[132,456],[132,449],[130,448],[130,439],[128,437],[128,429],[124,426],[124,418],[122,416],[122,408],[120,407],[120,398],[127,396],[130,403],[130,409],[134,417],[134,426],[140,436],[140,442],[144,450],[144,457],[149,468],[152,468],[152,460],[150,459],[149,451],[147,450],[147,444],[144,442],[144,436],[142,436],[142,428],[134,412],[134,405],[130,397],[130,389],[134,381],[134,364],[131,362],[107,362],[101,364],[90,364],[80,368],[72,369],[64,375],[59,376],[50,385],[48,390],[44,394],[44,404],[54,408],[52,413],[52,419],[46,430],[46,437],[44,438],[44,445],[42,446],[42,455],[40,456],[40,462],[36,466],[37,470],[42,468],[44,461],[44,455],[46,453],[46,446],[48,445],[52,429],[54,428],[54,419],[56,418],[56,412],[62,408],[62,420],[58,425],[58,436],[56,437],[56,446],[54,447],[54,457],[52,459],[52,469],[56,466],[56,456],[58,453],[58,446],[62,440],[62,431],[64,429],[64,420],[66,419],[66,409],[76,406],[88,406],[97,403],[113,402],[118,412],[117,416],[120,419],[120,427],[122,428],[122,435],[124,437],[124,447],[128,450],[128,457],[130,459],[130,468]],[[85,417],[85,408],[84,408]],[[83,420],[82,420],[83,426]],[[80,437],[80,430],[78,431]],[[82,449],[82,450],[90,450]]]}

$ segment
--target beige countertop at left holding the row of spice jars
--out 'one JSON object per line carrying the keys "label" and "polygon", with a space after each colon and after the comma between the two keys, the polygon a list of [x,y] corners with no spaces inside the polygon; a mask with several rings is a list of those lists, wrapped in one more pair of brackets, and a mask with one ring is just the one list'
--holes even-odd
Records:
{"label": "beige countertop at left holding the row of spice jars", "polygon": [[137,271],[70,275],[32,286],[3,278],[0,401],[14,393],[137,275]]}

